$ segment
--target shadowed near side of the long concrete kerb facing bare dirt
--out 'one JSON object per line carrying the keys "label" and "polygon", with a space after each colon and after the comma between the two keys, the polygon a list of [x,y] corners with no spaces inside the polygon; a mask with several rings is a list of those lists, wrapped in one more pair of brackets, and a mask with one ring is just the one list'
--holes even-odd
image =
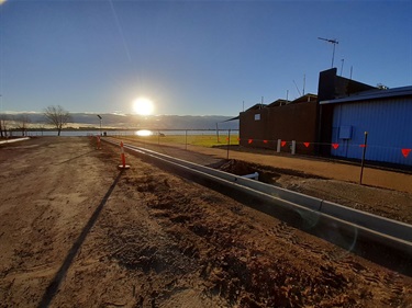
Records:
{"label": "shadowed near side of the long concrete kerb facing bare dirt", "polygon": [[[144,150],[137,151],[143,156],[149,156],[152,159],[157,161],[157,164],[159,162],[163,164],[163,167],[166,164],[167,169],[171,168],[175,170],[175,172],[179,170],[179,175],[187,178],[188,174],[191,174],[193,175],[191,179],[194,179],[197,182],[201,182],[200,179],[202,178],[208,179],[211,182],[218,183],[220,186],[224,187],[225,192],[231,190],[235,191],[237,198],[243,202],[245,201],[245,195],[247,195],[247,197],[252,199],[252,202],[247,203],[248,206],[270,216],[278,218],[280,217],[281,219],[290,223],[292,226],[319,236],[330,242],[343,247],[348,251],[356,251],[358,249],[357,246],[360,246],[360,242],[372,241],[386,248],[397,250],[400,253],[404,253],[405,258],[412,258],[412,242],[265,194],[233,181],[227,181],[221,176],[204,173],[194,168],[169,161],[165,158],[154,156],[153,153],[147,153]],[[343,238],[346,240],[343,240]]]}

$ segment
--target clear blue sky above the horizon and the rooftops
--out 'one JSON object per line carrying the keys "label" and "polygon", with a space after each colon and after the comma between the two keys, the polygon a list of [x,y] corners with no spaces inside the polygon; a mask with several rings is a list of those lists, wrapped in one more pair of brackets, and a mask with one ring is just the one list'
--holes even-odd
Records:
{"label": "clear blue sky above the horizon and the rooftops", "polygon": [[0,112],[238,115],[319,72],[412,85],[412,1],[0,1]]}

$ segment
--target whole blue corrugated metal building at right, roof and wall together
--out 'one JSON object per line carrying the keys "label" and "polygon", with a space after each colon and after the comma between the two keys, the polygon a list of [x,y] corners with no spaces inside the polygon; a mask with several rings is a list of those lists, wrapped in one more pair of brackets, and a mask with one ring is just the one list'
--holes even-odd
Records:
{"label": "whole blue corrugated metal building at right, roof and wall together", "polygon": [[412,87],[372,90],[320,102],[333,107],[331,155],[412,166]]}

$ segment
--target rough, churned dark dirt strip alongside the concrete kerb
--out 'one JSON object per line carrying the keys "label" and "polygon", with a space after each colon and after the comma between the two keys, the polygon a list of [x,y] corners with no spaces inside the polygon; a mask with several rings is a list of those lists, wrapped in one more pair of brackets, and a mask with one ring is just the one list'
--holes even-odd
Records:
{"label": "rough, churned dark dirt strip alongside the concrete kerb", "polygon": [[[135,185],[136,191],[144,195],[148,215],[163,227],[168,237],[168,244],[172,242],[171,246],[187,258],[187,262],[194,264],[188,272],[180,272],[180,274],[198,275],[198,278],[203,280],[203,294],[211,298],[224,298],[229,305],[241,307],[292,307],[310,303],[324,307],[356,305],[356,299],[346,295],[350,286],[353,287],[350,278],[342,274],[342,270],[336,270],[341,266],[353,272],[353,267],[361,267],[357,262],[346,265],[347,253],[341,252],[336,255],[329,253],[321,247],[301,239],[294,228],[281,221],[264,230],[266,236],[288,243],[288,247],[292,246],[290,252],[294,255],[299,254],[298,251],[319,255],[323,265],[312,274],[301,273],[292,265],[290,258],[283,254],[275,260],[268,259],[266,251],[259,248],[259,244],[266,240],[263,242],[242,240],[250,229],[250,223],[242,219],[238,221],[238,217],[229,219],[233,218],[229,212],[243,217],[238,215],[243,212],[242,206],[229,206],[225,208],[225,214],[216,215],[201,202],[208,199],[218,205],[222,201],[227,202],[224,197],[191,194],[186,187],[178,191],[174,189],[174,184],[170,184],[176,180],[165,178],[162,173],[156,175],[151,173],[134,179],[135,182],[131,179],[126,181]],[[222,214],[227,219],[222,218]],[[253,226],[252,229],[260,231],[261,228]],[[149,250],[147,246],[140,249],[143,258],[146,258],[144,260],[149,262],[147,264],[157,264],[156,255],[166,259],[178,256]],[[146,267],[142,266],[142,269]],[[153,270],[148,267],[148,271]],[[157,270],[157,274],[160,272]],[[365,276],[365,282],[370,283],[371,280],[380,282],[379,276]],[[275,288],[267,288],[270,285]],[[381,286],[380,284],[379,287]],[[397,294],[396,290],[390,292],[396,299],[390,297],[388,303],[402,303],[403,293]],[[265,300],[261,301],[261,298]],[[367,299],[367,292],[360,294],[358,299]]]}

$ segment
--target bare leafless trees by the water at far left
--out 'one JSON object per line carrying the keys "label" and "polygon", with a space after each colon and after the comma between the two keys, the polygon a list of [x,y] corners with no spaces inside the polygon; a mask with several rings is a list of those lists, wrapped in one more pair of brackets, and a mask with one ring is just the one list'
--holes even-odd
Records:
{"label": "bare leafless trees by the water at far left", "polygon": [[[60,136],[62,129],[71,121],[70,113],[60,105],[44,109],[43,116],[45,124],[57,129],[57,136]],[[11,123],[13,123],[13,127],[10,127]],[[8,132],[11,129],[22,132],[22,136],[24,136],[30,123],[31,119],[27,115],[0,114],[0,138],[8,137]]]}

